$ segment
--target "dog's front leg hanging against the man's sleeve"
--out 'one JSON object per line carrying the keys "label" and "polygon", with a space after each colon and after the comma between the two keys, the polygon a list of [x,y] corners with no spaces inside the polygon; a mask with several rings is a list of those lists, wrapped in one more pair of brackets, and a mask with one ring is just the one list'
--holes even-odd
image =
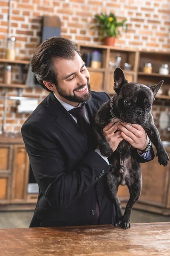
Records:
{"label": "dog's front leg hanging against the man's sleeve", "polygon": [[93,128],[94,134],[96,136],[96,140],[99,143],[100,152],[102,153],[103,156],[110,157],[111,154],[113,153],[113,150],[109,146],[105,136],[102,133],[102,130],[99,130],[99,129],[100,128],[97,128],[96,126],[94,126]]}

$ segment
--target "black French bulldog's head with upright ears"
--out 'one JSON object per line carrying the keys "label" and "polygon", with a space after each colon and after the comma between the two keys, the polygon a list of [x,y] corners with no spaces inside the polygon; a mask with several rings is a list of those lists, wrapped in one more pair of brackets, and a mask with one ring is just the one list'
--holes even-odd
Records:
{"label": "black French bulldog's head with upright ears", "polygon": [[152,108],[156,93],[164,81],[147,87],[144,84],[128,82],[120,68],[114,72],[114,90],[116,97],[114,103],[124,122],[143,125]]}

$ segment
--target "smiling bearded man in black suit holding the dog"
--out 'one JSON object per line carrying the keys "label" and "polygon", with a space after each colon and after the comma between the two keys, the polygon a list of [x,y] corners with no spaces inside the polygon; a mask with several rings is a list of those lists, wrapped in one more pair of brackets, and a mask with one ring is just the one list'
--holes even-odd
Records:
{"label": "smiling bearded man in black suit holding the dog", "polygon": [[[32,71],[50,93],[22,126],[23,140],[39,186],[30,227],[113,224],[115,210],[107,186],[110,166],[93,135],[93,117],[110,97],[91,92],[90,75],[72,41],[52,37],[34,52]],[[114,151],[123,139],[144,150],[142,127],[109,123],[105,137]],[[122,130],[122,131],[121,131]],[[152,154],[136,150],[140,162]]]}

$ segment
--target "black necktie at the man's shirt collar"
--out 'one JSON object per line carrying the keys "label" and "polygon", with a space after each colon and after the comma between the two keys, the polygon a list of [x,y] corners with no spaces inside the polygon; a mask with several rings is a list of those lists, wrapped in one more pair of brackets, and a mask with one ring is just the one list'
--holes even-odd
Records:
{"label": "black necktie at the man's shirt collar", "polygon": [[85,106],[73,108],[68,112],[77,118],[77,125],[79,125],[80,130],[84,132],[88,137],[91,131],[91,127],[88,123],[88,120],[85,118]]}

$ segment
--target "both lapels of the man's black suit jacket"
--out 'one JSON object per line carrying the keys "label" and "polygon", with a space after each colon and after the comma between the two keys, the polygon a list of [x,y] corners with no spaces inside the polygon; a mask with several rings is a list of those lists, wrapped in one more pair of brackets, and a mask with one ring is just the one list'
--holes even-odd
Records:
{"label": "both lapels of the man's black suit jacket", "polygon": [[[87,151],[87,138],[79,129],[79,126],[66,111],[66,109],[59,103],[53,93],[50,93],[47,97],[48,108],[52,115],[56,116],[55,121],[60,125],[83,149]],[[88,115],[90,124],[93,124],[93,116],[99,108],[99,102],[91,99],[87,103]]]}

